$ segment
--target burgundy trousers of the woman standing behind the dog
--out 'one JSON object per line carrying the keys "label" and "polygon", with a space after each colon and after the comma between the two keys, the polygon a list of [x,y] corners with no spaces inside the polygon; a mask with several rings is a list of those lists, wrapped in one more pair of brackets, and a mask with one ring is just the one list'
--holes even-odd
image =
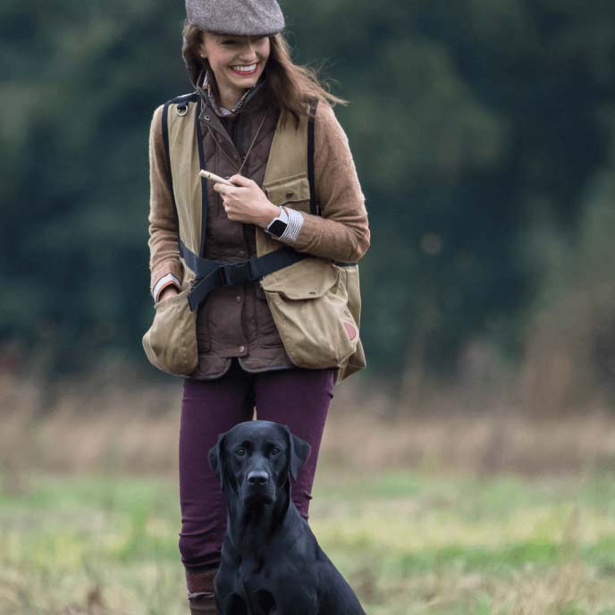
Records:
{"label": "burgundy trousers of the woman standing behind the dog", "polygon": [[199,572],[218,567],[226,529],[226,499],[207,454],[218,434],[252,420],[255,406],[258,419],[288,425],[293,434],[312,447],[297,481],[291,480],[292,501],[307,519],[324,422],[333,398],[333,374],[332,369],[249,374],[233,360],[231,369],[218,379],[184,382],[179,548],[187,577],[198,577]]}

